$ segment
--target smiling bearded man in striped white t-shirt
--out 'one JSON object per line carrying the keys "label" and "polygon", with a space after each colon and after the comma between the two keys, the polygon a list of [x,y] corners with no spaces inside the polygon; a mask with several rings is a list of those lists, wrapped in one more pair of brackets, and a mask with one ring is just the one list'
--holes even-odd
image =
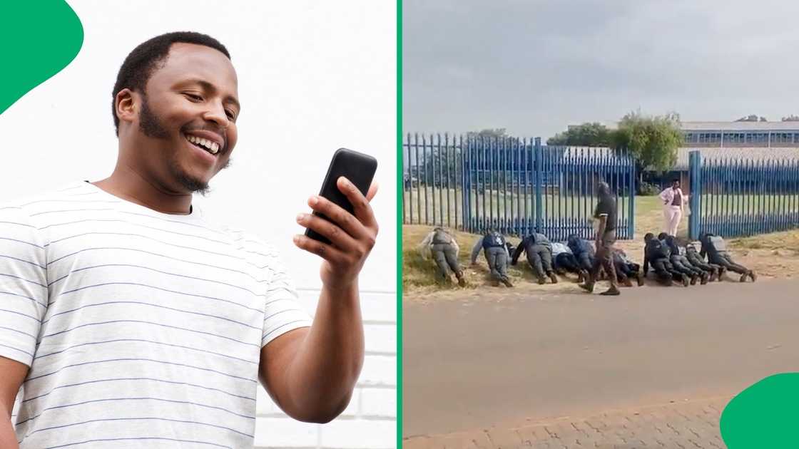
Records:
{"label": "smiling bearded man in striped white t-shirt", "polygon": [[192,205],[237,141],[225,47],[144,42],[112,112],[109,177],[0,205],[0,447],[252,447],[259,380],[293,418],[335,418],[364,360],[374,186],[364,197],[339,180],[354,215],[315,196],[332,222],[297,217],[332,240],[294,240],[324,259],[312,321],[271,246]]}

